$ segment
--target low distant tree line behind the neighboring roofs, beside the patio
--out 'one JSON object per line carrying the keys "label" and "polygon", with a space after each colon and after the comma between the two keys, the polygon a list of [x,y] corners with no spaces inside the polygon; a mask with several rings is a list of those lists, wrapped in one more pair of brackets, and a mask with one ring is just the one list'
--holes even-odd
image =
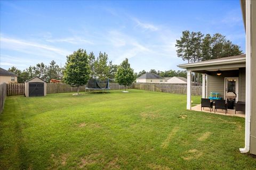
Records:
{"label": "low distant tree line behind the neighboring roofs, beside the patio", "polygon": [[175,70],[167,70],[167,71],[156,71],[155,69],[151,69],[149,72],[146,72],[145,70],[140,71],[139,73],[135,73],[135,76],[138,78],[141,75],[145,74],[145,73],[154,73],[157,74],[163,78],[167,78],[167,77],[183,77],[183,78],[187,78],[187,72],[186,71],[175,71]]}

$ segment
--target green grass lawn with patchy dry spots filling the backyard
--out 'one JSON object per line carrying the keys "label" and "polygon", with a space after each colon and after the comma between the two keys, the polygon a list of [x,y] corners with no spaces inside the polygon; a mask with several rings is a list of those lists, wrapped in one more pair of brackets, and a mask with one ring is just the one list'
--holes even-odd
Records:
{"label": "green grass lawn with patchy dry spots filling the backyard", "polygon": [[244,118],[187,111],[185,95],[129,91],[7,97],[0,168],[255,169],[238,150]]}

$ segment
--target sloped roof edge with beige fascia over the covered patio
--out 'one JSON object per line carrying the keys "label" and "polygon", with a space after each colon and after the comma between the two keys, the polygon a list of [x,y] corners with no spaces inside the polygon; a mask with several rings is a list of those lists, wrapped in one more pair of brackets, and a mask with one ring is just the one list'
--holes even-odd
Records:
{"label": "sloped roof edge with beige fascia over the covered patio", "polygon": [[218,65],[228,65],[228,64],[241,64],[245,63],[245,54],[230,56],[230,57],[223,57],[214,60],[206,60],[202,62],[196,63],[188,63],[188,64],[180,64],[178,67],[182,69],[187,69],[191,67],[201,67],[201,66],[218,66]]}

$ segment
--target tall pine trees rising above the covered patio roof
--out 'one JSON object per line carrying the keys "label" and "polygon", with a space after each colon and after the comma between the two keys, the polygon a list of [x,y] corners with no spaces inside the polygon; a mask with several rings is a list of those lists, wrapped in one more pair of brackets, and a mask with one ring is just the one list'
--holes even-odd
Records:
{"label": "tall pine trees rising above the covered patio roof", "polygon": [[241,55],[240,47],[233,44],[220,33],[206,35],[194,31],[183,31],[180,39],[176,40],[177,56],[183,61],[194,63],[222,57]]}

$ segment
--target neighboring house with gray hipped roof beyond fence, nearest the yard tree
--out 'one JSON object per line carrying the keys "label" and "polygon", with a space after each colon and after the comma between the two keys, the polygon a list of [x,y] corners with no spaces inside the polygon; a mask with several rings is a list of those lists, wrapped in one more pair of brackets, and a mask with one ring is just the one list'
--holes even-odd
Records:
{"label": "neighboring house with gray hipped roof beyond fence, nearest the yard tree", "polygon": [[164,83],[164,78],[154,73],[145,73],[136,79],[137,83]]}

